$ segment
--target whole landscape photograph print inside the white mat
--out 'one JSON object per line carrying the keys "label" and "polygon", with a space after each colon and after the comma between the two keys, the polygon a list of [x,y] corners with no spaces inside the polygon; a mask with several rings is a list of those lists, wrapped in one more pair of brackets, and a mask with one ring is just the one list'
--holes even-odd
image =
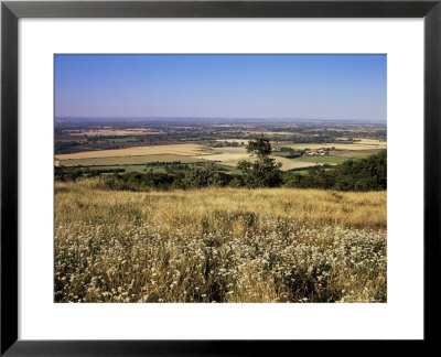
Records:
{"label": "whole landscape photograph print inside the white mat", "polygon": [[55,54],[54,302],[386,303],[387,55]]}

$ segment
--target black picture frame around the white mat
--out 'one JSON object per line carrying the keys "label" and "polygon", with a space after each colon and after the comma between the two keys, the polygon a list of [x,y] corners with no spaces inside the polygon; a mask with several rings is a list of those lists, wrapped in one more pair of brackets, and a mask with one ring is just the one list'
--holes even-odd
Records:
{"label": "black picture frame around the white mat", "polygon": [[[295,340],[18,339],[18,20],[20,18],[423,18],[424,339],[435,342],[441,250],[441,0],[410,1],[2,1],[1,349],[6,356],[214,356],[284,354]],[[411,207],[409,207],[411,209]],[[411,293],[411,286],[409,286]],[[331,344],[331,342],[327,342]],[[391,343],[391,342],[390,342]],[[421,347],[422,342],[416,342]],[[333,343],[333,346],[337,344]],[[268,349],[270,348],[270,349]],[[286,349],[288,348],[288,349]],[[408,347],[407,347],[408,348]],[[419,349],[419,353],[422,351]]]}

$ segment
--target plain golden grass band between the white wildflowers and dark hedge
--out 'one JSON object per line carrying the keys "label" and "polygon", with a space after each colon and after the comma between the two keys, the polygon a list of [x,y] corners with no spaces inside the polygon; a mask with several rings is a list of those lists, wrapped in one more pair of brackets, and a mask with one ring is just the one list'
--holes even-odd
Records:
{"label": "plain golden grass band between the white wildflowers and dark hedge", "polygon": [[176,216],[197,221],[213,212],[233,215],[244,210],[257,216],[355,228],[386,228],[387,223],[385,191],[207,187],[146,193],[96,190],[97,182],[56,183],[56,219],[65,221],[71,214],[74,219],[90,219],[93,212],[88,208],[93,207],[99,208],[97,219],[114,220],[114,210],[123,204],[136,206],[140,217],[153,215],[153,219],[166,224],[172,224]]}

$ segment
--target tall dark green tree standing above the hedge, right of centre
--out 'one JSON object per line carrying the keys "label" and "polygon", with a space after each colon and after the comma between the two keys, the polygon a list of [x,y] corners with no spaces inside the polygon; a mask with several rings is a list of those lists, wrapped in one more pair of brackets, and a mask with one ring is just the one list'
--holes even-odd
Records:
{"label": "tall dark green tree standing above the hedge, right of centre", "polygon": [[265,136],[250,140],[246,145],[247,152],[256,155],[254,162],[239,161],[237,169],[244,172],[244,183],[248,187],[277,187],[282,183],[281,164],[270,158],[271,143]]}

